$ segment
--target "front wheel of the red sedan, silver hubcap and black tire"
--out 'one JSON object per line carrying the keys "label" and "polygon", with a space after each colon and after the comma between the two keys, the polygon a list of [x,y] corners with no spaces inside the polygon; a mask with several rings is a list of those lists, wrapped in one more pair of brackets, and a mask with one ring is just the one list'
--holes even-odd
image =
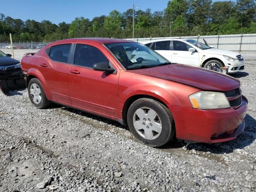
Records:
{"label": "front wheel of the red sedan, silver hubcap and black tire", "polygon": [[135,138],[151,147],[166,144],[175,134],[174,119],[170,110],[151,98],[140,98],[131,104],[127,123]]}

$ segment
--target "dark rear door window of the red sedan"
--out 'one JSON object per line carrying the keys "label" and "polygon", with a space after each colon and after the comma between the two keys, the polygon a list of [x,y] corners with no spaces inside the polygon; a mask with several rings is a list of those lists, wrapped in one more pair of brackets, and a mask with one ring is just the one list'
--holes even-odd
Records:
{"label": "dark rear door window of the red sedan", "polygon": [[71,44],[62,44],[52,46],[50,49],[49,57],[58,62],[68,63],[68,54]]}

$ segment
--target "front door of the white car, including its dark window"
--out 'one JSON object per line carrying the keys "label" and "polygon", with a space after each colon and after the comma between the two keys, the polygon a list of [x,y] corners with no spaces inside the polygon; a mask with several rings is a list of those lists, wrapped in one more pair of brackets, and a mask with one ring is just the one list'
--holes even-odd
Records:
{"label": "front door of the white car, including its dark window", "polygon": [[189,48],[192,48],[190,45],[179,40],[173,40],[172,48],[172,62],[186,64],[190,66],[199,65],[199,53],[188,51]]}

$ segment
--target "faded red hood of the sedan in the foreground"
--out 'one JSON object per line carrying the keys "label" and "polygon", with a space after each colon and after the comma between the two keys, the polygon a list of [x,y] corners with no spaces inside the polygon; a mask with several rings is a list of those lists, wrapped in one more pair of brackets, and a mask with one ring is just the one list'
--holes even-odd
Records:
{"label": "faded red hood of the sedan in the foreground", "polygon": [[226,74],[183,64],[171,64],[129,72],[187,84],[202,90],[230,91],[240,86],[240,81]]}

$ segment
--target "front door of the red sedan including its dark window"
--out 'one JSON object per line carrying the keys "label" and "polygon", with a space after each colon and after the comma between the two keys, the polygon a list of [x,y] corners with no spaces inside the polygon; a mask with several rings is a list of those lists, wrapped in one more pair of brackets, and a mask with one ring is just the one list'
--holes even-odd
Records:
{"label": "front door of the red sedan including its dark window", "polygon": [[106,117],[116,116],[119,70],[106,74],[92,69],[98,62],[112,66],[110,60],[95,44],[76,44],[68,75],[72,105]]}

